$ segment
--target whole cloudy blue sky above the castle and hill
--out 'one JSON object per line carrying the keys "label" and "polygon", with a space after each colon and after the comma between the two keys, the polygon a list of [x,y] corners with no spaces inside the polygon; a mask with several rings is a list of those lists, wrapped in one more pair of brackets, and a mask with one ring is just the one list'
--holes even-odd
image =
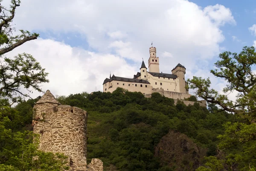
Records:
{"label": "whole cloudy blue sky above the castle and hill", "polygon": [[226,82],[209,72],[218,54],[256,46],[254,0],[22,0],[13,23],[40,38],[8,55],[32,54],[49,72],[42,90],[58,96],[102,91],[110,72],[132,78],[151,42],[160,72],[180,63],[185,79],[209,77],[221,93]]}

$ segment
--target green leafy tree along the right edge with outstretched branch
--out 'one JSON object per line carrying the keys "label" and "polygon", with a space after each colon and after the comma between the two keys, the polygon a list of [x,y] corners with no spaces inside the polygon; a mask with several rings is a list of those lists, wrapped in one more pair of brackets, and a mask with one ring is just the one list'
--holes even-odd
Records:
{"label": "green leafy tree along the right edge with outstretched branch", "polygon": [[[210,88],[209,78],[203,79],[194,76],[188,79],[189,88],[195,90],[198,97],[209,103],[216,104],[218,109],[225,110],[237,116],[237,122],[227,122],[224,135],[218,136],[220,143],[218,149],[225,155],[222,170],[255,171],[256,169],[256,75],[252,67],[256,64],[255,48],[245,46],[237,53],[223,52],[220,60],[215,63],[217,69],[211,73],[217,78],[227,81],[223,92],[238,92],[236,100],[228,99]],[[214,160],[209,160],[209,163]],[[219,162],[218,162],[219,165]],[[209,171],[214,169],[207,165]],[[198,171],[204,171],[203,168]]]}

